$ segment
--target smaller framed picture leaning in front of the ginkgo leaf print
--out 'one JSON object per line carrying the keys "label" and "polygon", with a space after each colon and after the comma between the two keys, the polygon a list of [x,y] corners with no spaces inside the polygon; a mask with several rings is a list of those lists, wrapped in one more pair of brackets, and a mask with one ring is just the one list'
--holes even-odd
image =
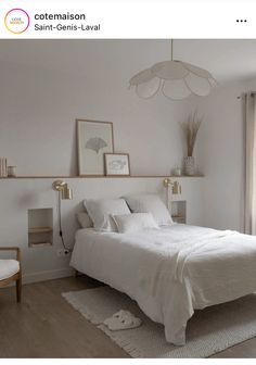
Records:
{"label": "smaller framed picture leaning in front of the ginkgo leaf print", "polygon": [[128,153],[104,153],[107,176],[129,176],[130,162]]}

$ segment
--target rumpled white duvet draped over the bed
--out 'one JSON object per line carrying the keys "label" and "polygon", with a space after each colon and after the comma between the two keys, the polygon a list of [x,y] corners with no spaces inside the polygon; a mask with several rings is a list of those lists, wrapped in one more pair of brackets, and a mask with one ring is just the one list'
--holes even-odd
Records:
{"label": "rumpled white duvet draped over the bed", "polygon": [[136,234],[80,229],[71,265],[135,299],[185,343],[194,310],[256,291],[256,238],[175,224]]}

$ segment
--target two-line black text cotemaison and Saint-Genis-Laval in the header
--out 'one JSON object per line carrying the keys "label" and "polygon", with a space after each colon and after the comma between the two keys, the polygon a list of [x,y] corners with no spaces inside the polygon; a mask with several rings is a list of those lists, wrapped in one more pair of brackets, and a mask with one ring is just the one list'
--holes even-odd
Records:
{"label": "two-line black text cotemaison and Saint-Genis-Laval in the header", "polygon": [[[86,21],[86,14],[35,14],[35,20],[38,21]],[[39,22],[38,22],[39,23]],[[100,30],[101,25],[86,25],[86,24],[35,24],[35,30]]]}

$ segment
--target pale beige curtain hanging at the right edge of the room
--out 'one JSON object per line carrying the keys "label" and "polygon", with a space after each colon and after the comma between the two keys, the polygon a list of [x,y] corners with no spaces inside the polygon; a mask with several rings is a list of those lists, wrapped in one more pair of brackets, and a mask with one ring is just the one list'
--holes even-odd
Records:
{"label": "pale beige curtain hanging at the right edge of the room", "polygon": [[256,235],[256,95],[244,96],[245,103],[245,215],[244,232]]}

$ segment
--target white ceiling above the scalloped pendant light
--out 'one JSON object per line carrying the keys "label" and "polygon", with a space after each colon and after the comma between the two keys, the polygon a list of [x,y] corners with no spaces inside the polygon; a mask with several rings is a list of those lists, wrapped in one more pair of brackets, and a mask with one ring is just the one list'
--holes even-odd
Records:
{"label": "white ceiling above the scalloped pendant light", "polygon": [[[169,40],[0,40],[0,62],[18,63],[79,76],[128,79],[170,58]],[[254,39],[177,39],[174,59],[208,70],[218,83],[256,77]]]}

